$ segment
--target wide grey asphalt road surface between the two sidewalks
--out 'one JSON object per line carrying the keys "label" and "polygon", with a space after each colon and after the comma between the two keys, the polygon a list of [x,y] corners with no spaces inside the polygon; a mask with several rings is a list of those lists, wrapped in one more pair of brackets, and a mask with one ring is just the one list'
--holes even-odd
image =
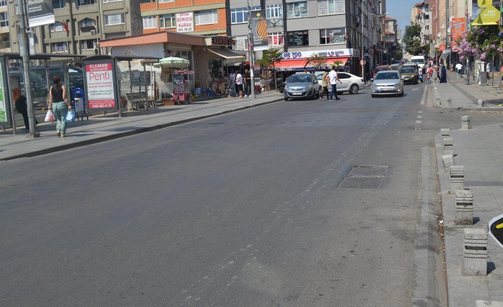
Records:
{"label": "wide grey asphalt road surface between the two sidewalks", "polygon": [[[464,114],[405,93],[0,163],[0,305],[409,305],[421,148]],[[387,167],[381,188],[339,187],[360,165]]]}

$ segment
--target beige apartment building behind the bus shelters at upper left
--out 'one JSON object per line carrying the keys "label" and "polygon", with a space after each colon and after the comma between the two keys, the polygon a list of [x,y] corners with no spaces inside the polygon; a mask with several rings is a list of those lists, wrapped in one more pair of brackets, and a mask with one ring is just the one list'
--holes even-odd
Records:
{"label": "beige apartment building behind the bus shelters at upper left", "polygon": [[[19,19],[14,1],[7,1],[9,45],[19,52]],[[101,40],[141,34],[140,0],[53,0],[52,5],[55,23],[35,27],[30,34],[36,53],[100,54],[105,53]]]}

